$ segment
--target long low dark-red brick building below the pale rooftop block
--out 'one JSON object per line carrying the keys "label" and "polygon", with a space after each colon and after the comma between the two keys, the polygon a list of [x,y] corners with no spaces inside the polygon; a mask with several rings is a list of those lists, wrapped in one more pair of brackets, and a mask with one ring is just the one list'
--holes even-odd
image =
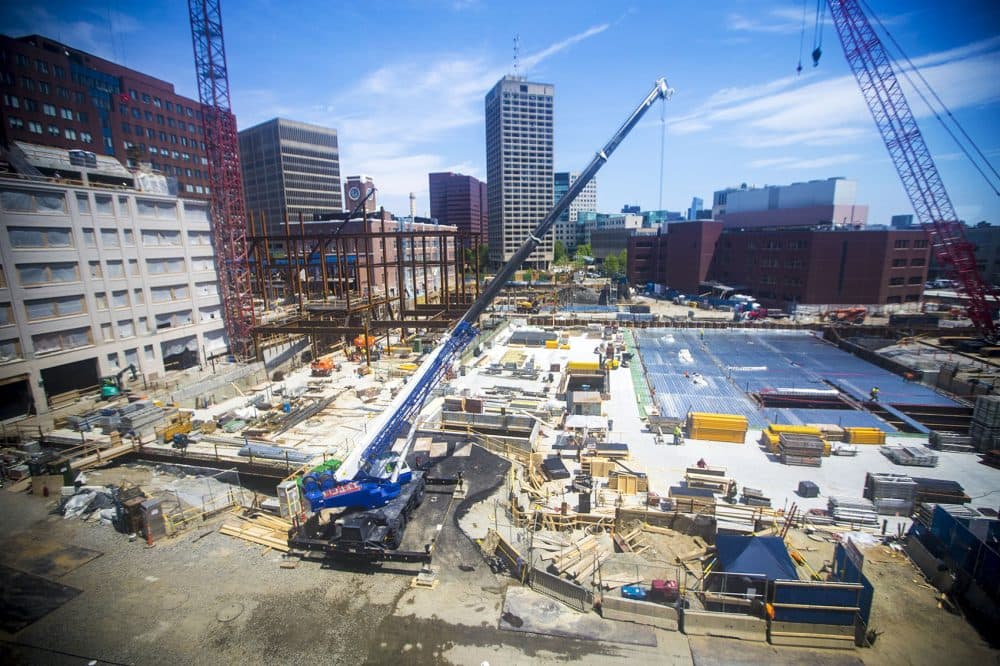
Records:
{"label": "long low dark-red brick building below the pale rooftop block", "polygon": [[723,230],[717,221],[670,225],[629,245],[629,280],[693,292],[706,280],[765,305],[896,304],[920,300],[930,249],[921,230]]}

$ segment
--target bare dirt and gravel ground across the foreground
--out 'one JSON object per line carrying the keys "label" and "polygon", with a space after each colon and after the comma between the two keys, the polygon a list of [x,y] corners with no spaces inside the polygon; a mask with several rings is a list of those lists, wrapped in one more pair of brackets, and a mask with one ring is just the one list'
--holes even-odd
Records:
{"label": "bare dirt and gravel ground across the foreground", "polygon": [[[484,499],[493,495],[473,488],[467,501]],[[439,584],[428,590],[411,588],[413,565],[281,568],[280,553],[218,533],[224,517],[149,548],[110,527],[50,515],[50,508],[48,500],[0,491],[0,550],[27,539],[41,550],[56,542],[102,554],[53,577],[79,595],[17,633],[0,631],[2,663],[690,664],[709,663],[706,640],[717,643],[717,655],[766,655],[771,664],[803,659],[801,651],[715,638],[699,639],[700,651],[693,650],[688,637],[661,630],[655,648],[501,630],[504,593],[516,583],[490,571],[453,519],[436,549]],[[693,544],[690,537],[649,541],[661,563]],[[832,553],[830,544],[800,545],[816,548],[804,553],[816,567]],[[905,557],[874,548],[866,558],[876,588],[873,626],[884,633],[872,649],[819,651],[817,659],[1000,663],[1000,652],[963,619],[937,607]]]}

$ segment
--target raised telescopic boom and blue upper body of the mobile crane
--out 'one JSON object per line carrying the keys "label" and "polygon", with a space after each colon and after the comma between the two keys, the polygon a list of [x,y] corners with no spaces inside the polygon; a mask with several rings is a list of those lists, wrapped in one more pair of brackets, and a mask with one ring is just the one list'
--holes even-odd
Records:
{"label": "raised telescopic boom and blue upper body of the mobile crane", "polygon": [[390,452],[396,438],[409,426],[412,440],[416,430],[414,421],[431,391],[440,383],[448,368],[462,350],[476,335],[475,322],[489,307],[497,294],[514,275],[514,272],[535,250],[542,238],[552,230],[559,215],[566,210],[576,195],[597,174],[618,145],[628,136],[649,107],[659,99],[669,99],[673,90],[665,79],[657,79],[653,89],[639,103],[635,111],[615,131],[611,140],[594,156],[576,182],[556,202],[555,206],[528,234],[520,249],[497,272],[496,277],[486,286],[455,327],[445,335],[441,343],[427,355],[403,390],[376,419],[366,428],[363,441],[336,470],[336,486],[325,491],[314,490],[306,493],[307,499],[316,510],[321,506],[352,506],[375,508],[385,504],[400,491],[400,484],[409,480],[409,475],[400,470],[405,460],[391,459]]}

